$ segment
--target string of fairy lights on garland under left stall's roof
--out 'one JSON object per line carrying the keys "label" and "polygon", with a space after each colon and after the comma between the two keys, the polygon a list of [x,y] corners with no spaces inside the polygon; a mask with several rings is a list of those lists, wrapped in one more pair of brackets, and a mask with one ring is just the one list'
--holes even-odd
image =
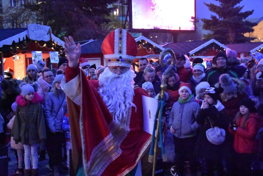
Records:
{"label": "string of fairy lights on garland under left stall's roof", "polygon": [[17,43],[13,42],[12,45],[3,45],[0,48],[0,53],[12,53],[13,55],[18,54],[23,51],[29,51],[29,45],[35,43],[40,48],[45,49],[52,49],[53,51],[56,51],[59,53],[61,57],[65,57],[64,48],[61,45],[58,45],[54,43],[53,41],[35,41],[30,40],[26,37],[26,39],[19,41]]}

